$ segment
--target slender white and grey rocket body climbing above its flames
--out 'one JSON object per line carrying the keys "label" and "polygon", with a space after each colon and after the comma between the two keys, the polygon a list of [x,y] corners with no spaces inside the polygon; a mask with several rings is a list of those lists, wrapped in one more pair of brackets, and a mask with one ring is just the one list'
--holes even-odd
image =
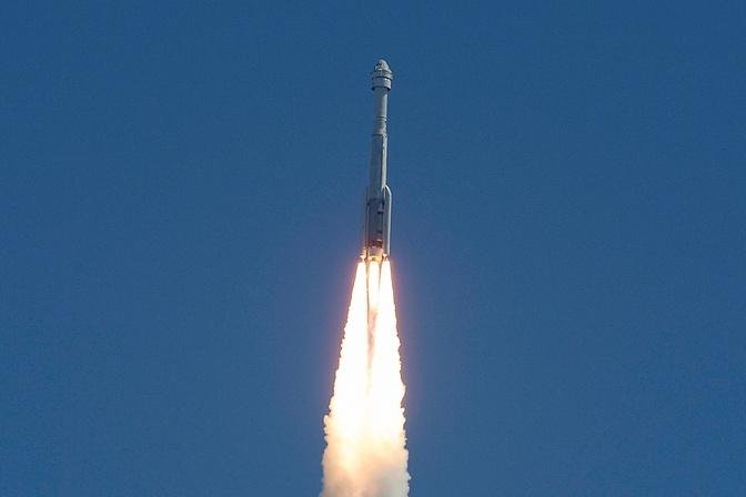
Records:
{"label": "slender white and grey rocket body climbing above its flames", "polygon": [[386,113],[389,91],[394,74],[381,59],[371,73],[373,90],[373,134],[371,136],[370,180],[363,210],[363,243],[361,258],[382,261],[391,254],[391,190],[386,184]]}

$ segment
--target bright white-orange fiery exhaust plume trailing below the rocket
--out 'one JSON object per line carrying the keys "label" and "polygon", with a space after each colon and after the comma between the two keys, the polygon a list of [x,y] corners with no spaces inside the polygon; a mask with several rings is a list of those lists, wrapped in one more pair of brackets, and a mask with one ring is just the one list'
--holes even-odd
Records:
{"label": "bright white-orange fiery exhaust plume trailing below the rocket", "polygon": [[357,265],[324,417],[321,497],[406,497],[404,383],[389,261]]}

